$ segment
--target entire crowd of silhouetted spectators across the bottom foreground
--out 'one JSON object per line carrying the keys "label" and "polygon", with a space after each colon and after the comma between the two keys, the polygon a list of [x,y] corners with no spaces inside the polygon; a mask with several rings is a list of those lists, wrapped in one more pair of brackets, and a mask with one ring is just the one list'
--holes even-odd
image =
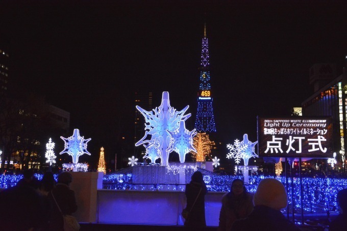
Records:
{"label": "entire crowd of silhouetted spectators across the bottom foreground", "polygon": [[[3,230],[14,231],[62,231],[63,215],[77,211],[75,192],[69,188],[72,175],[62,172],[55,181],[47,171],[38,181],[31,169],[23,172],[16,186],[0,192],[0,225]],[[204,230],[205,195],[207,187],[203,174],[195,171],[186,185],[186,230]],[[244,182],[235,179],[230,192],[221,198],[218,231],[245,230],[300,230],[281,212],[287,207],[287,192],[284,185],[272,178],[262,179],[256,192],[247,192]],[[347,230],[347,189],[337,194],[342,213],[329,224],[329,230]]]}

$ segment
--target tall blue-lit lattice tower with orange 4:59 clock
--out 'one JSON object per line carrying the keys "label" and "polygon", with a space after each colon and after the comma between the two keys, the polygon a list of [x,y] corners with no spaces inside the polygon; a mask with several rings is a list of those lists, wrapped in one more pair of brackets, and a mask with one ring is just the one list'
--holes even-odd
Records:
{"label": "tall blue-lit lattice tower with orange 4:59 clock", "polygon": [[213,116],[213,94],[211,91],[210,62],[208,55],[208,39],[206,36],[206,23],[201,52],[200,85],[197,93],[197,111],[195,129],[199,132],[215,132],[216,126]]}

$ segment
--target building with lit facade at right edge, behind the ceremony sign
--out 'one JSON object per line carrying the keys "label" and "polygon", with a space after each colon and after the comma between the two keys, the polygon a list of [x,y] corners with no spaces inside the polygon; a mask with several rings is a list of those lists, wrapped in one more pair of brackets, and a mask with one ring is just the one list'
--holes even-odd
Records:
{"label": "building with lit facade at right edge, behind the ceremony sign", "polygon": [[[303,116],[330,116],[332,118],[334,152],[339,155],[338,159],[342,162],[343,169],[345,169],[346,164],[345,145],[347,143],[346,67],[343,69],[343,74],[335,77],[335,65],[316,64],[312,66],[310,70],[310,83],[314,84],[315,93],[302,103]],[[317,85],[318,80],[320,84]],[[326,84],[322,85],[322,82]]]}

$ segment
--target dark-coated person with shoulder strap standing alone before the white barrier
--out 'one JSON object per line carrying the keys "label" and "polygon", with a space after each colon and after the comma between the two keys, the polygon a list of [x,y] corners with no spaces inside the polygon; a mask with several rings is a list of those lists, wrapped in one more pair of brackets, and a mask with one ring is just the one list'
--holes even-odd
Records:
{"label": "dark-coated person with shoulder strap standing alone before the white barrier", "polygon": [[206,227],[206,193],[207,188],[203,180],[203,174],[200,171],[195,171],[194,174],[191,176],[190,183],[186,185],[185,191],[185,195],[187,198],[186,209],[190,212],[188,219],[186,219],[184,222],[184,225],[187,227],[188,230],[202,230]]}

